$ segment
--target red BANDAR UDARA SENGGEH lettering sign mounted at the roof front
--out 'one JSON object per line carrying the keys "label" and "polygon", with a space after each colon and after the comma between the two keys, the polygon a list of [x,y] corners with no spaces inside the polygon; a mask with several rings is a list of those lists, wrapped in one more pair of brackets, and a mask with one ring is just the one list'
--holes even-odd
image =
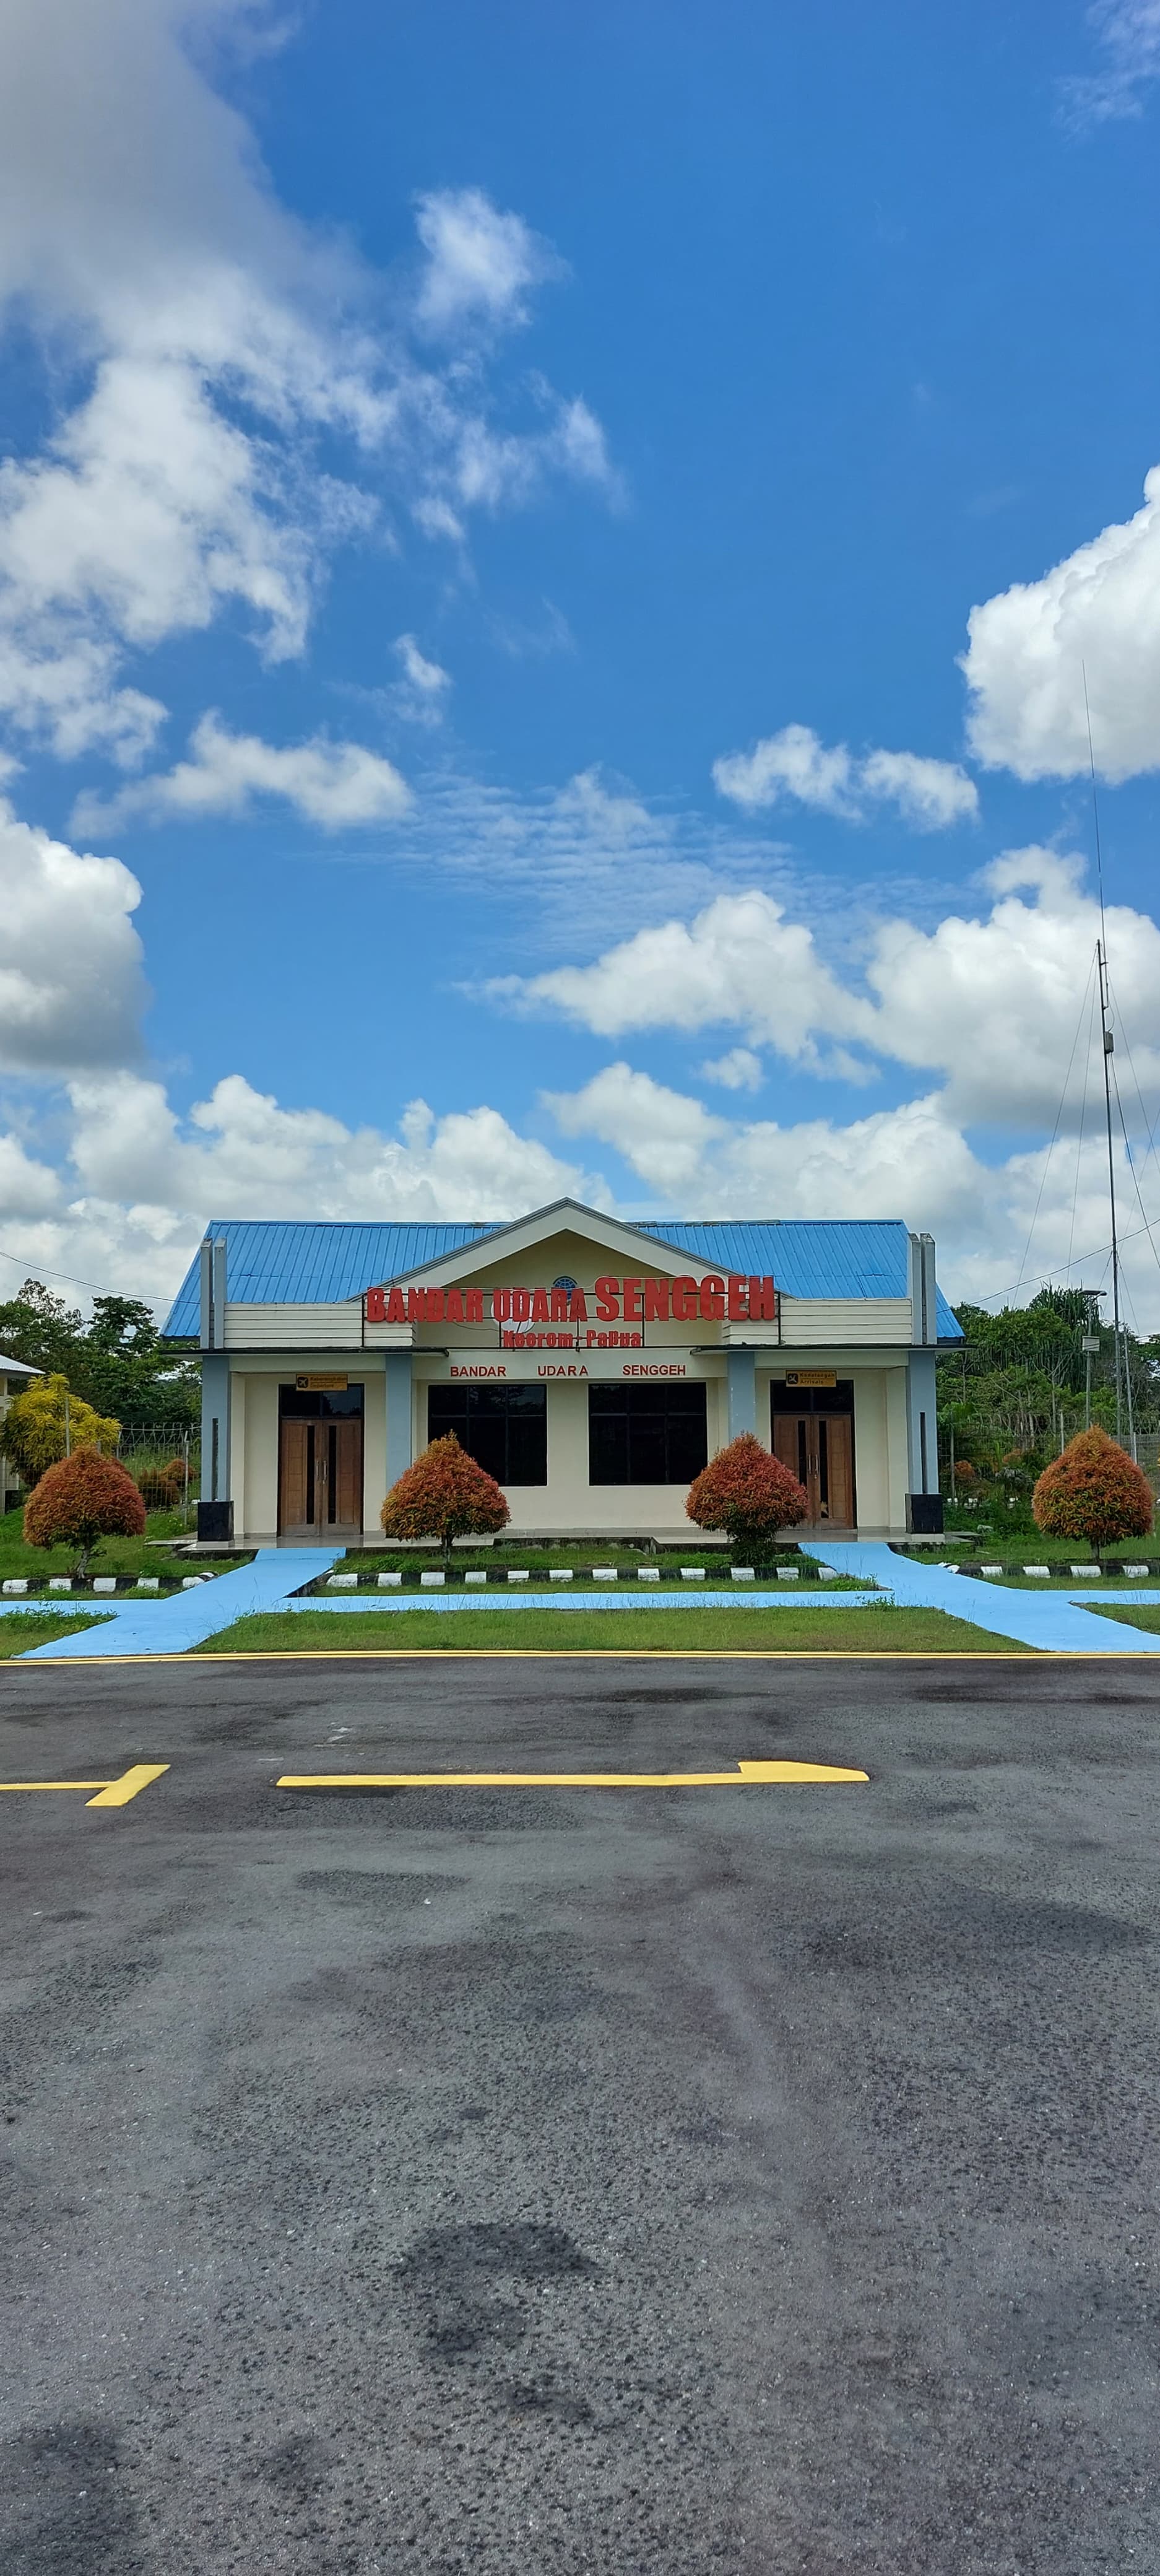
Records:
{"label": "red BANDAR UDARA SENGGEH lettering sign mounted at the roof front", "polygon": [[[552,1345],[580,1340],[577,1327],[595,1327],[588,1340],[611,1342],[608,1327],[626,1324],[616,1342],[634,1347],[642,1324],[776,1324],[778,1298],[771,1278],[748,1278],[740,1270],[706,1270],[693,1278],[598,1278],[595,1285],[577,1288],[405,1288],[387,1280],[366,1288],[363,1316],[369,1324],[498,1324],[503,1342],[528,1347],[513,1327],[554,1324]],[[503,1329],[508,1327],[508,1329]],[[559,1327],[570,1327],[562,1332]],[[544,1334],[544,1340],[549,1340]]]}

